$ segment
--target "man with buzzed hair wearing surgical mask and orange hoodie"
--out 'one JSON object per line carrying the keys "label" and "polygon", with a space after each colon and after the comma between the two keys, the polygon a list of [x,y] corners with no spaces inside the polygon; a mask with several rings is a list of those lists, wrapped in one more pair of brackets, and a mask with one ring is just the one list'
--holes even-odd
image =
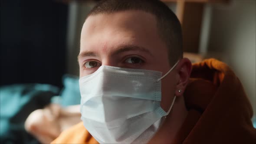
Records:
{"label": "man with buzzed hair wearing surgical mask and orange hoodie", "polygon": [[239,80],[214,59],[193,65],[190,79],[181,25],[158,0],[98,3],[78,60],[83,122],[53,143],[255,142]]}

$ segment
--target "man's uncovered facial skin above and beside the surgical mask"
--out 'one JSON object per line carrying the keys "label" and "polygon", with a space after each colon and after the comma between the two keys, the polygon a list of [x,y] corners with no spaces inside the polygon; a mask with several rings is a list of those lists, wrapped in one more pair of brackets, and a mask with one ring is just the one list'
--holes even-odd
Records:
{"label": "man's uncovered facial skin above and beside the surgical mask", "polygon": [[[154,15],[129,10],[89,16],[81,33],[80,78],[101,65],[155,70],[164,75],[171,67]],[[161,106],[165,111],[174,96],[174,72],[162,79]]]}

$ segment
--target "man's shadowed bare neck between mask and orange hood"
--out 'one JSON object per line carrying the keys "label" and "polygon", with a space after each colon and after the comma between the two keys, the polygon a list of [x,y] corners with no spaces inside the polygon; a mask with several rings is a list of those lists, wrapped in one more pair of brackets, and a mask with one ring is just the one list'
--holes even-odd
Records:
{"label": "man's shadowed bare neck between mask and orange hood", "polygon": [[170,144],[174,141],[175,135],[181,128],[186,117],[187,108],[184,97],[179,96],[176,98],[173,108],[170,114],[167,115],[163,125],[148,144]]}

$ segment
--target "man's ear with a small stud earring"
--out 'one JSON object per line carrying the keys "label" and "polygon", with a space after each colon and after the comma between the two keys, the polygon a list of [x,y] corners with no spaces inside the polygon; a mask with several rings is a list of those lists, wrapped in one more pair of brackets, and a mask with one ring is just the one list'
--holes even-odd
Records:
{"label": "man's ear with a small stud earring", "polygon": [[175,89],[176,96],[183,95],[190,78],[191,69],[192,69],[192,64],[190,60],[187,58],[181,59],[177,64],[177,67],[176,67],[177,85]]}

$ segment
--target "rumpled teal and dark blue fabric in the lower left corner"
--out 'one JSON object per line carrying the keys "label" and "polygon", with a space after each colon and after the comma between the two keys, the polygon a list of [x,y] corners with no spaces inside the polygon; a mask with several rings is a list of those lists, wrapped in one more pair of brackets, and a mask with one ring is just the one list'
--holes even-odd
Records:
{"label": "rumpled teal and dark blue fabric in the lower left corner", "polygon": [[36,109],[49,104],[59,88],[46,84],[19,84],[0,87],[0,143],[39,144],[28,134],[24,122]]}

